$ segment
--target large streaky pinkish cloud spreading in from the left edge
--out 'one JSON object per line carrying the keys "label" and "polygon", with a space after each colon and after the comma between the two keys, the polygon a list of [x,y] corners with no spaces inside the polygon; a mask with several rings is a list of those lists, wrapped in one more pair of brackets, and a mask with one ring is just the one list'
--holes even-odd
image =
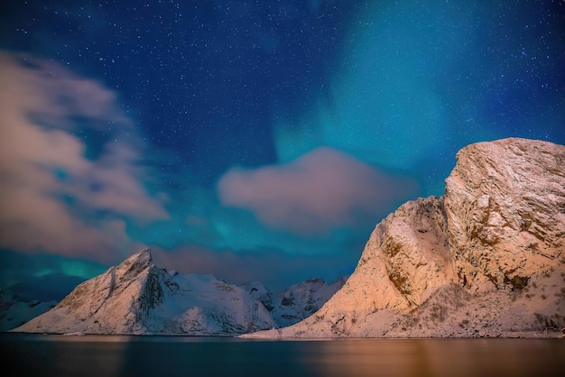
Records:
{"label": "large streaky pinkish cloud spreading in from the left edge", "polygon": [[128,219],[168,217],[144,189],[142,144],[114,92],[8,52],[0,86],[0,248],[115,261],[134,244]]}

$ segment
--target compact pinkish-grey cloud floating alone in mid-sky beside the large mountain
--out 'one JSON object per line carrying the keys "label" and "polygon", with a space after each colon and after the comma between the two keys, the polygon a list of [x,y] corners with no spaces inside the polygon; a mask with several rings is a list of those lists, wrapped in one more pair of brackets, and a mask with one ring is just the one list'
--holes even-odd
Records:
{"label": "compact pinkish-grey cloud floating alone in mid-sky beside the large mountain", "polygon": [[320,147],[288,164],[229,170],[218,181],[225,206],[246,208],[265,225],[325,233],[383,214],[417,189],[344,152]]}

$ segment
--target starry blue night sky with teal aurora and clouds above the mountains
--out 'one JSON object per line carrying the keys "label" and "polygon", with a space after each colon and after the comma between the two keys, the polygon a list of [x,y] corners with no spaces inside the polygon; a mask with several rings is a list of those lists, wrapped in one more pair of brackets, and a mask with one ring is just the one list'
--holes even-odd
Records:
{"label": "starry blue night sky with teal aurora and clouds above the mountains", "polygon": [[565,143],[565,2],[0,5],[0,288],[61,299],[145,246],[335,280],[455,154]]}

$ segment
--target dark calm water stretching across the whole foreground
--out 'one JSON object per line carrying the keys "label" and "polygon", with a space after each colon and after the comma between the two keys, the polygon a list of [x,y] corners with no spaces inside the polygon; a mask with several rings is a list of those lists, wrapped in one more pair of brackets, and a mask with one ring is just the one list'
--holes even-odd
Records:
{"label": "dark calm water stretching across the whole foreground", "polygon": [[565,376],[561,339],[1,334],[0,347],[14,376]]}

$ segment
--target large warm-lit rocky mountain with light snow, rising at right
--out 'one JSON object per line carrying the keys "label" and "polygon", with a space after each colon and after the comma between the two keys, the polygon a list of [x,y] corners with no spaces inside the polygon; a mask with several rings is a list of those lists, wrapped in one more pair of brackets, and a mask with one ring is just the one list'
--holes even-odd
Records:
{"label": "large warm-lit rocky mountain with light snow, rising at right", "polygon": [[376,225],[320,310],[247,336],[555,336],[564,281],[565,147],[476,143],[458,152],[442,197]]}

